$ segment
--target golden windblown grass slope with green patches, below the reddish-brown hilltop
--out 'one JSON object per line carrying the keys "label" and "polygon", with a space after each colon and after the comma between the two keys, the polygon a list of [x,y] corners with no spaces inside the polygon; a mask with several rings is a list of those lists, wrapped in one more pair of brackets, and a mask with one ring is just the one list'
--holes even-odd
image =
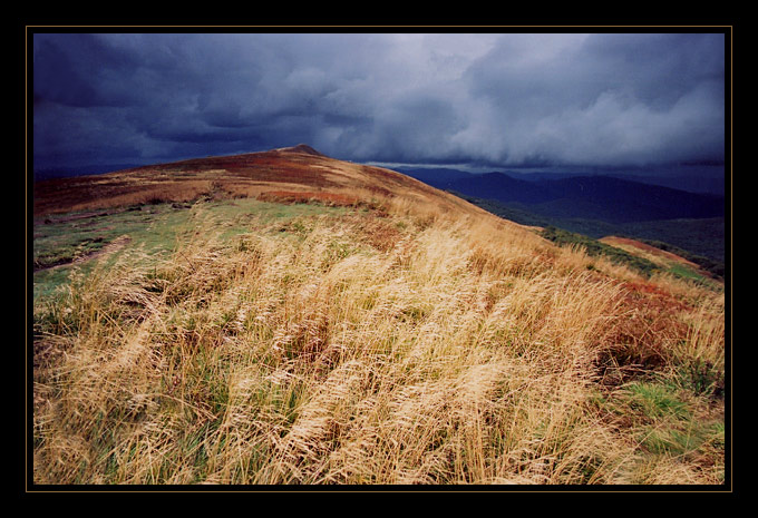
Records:
{"label": "golden windblown grass slope with green patches, below the reddish-brown hilltop", "polygon": [[723,293],[401,178],[249,174],[38,214],[79,261],[35,273],[35,482],[725,482]]}

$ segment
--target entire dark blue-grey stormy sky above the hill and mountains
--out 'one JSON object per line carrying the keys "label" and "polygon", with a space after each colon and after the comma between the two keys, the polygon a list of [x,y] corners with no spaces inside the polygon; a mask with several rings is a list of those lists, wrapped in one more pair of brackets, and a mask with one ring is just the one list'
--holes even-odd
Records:
{"label": "entire dark blue-grey stormy sky above the hill and mountains", "polygon": [[723,33],[36,33],[33,164],[725,159]]}

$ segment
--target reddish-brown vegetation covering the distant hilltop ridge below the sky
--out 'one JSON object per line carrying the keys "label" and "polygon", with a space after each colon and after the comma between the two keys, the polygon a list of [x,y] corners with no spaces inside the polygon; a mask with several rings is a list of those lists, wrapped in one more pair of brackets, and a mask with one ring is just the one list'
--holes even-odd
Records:
{"label": "reddish-brown vegetation covering the distant hilltop ridge below the sky", "polygon": [[[358,197],[322,190],[350,188],[361,189],[369,197],[391,197],[399,190],[412,189],[439,197],[436,189],[399,173],[336,160],[301,145],[37,182],[33,186],[33,214],[39,217],[145,203],[190,202],[202,197],[260,196],[268,190],[266,187],[276,185],[310,188],[307,193],[309,199],[338,206],[354,206]],[[305,195],[283,189],[276,193],[286,193],[279,196],[279,201],[285,203],[303,203],[301,197]],[[269,192],[265,196],[273,195]]]}

